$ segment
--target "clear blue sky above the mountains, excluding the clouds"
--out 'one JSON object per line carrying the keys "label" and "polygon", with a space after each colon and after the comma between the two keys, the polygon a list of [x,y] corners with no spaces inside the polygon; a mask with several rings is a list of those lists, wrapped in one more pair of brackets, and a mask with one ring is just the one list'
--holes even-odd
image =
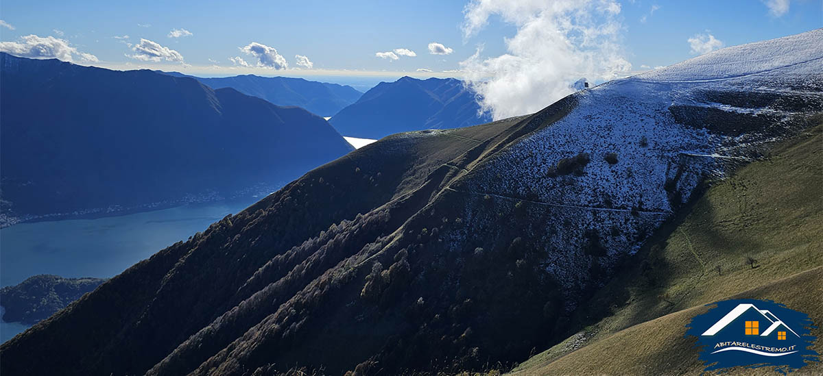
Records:
{"label": "clear blue sky above the mountains, excluding the clouds", "polygon": [[[489,0],[490,4],[493,2]],[[537,3],[533,0],[508,3],[518,2],[525,4],[523,9],[526,12],[537,12],[544,7],[532,4]],[[592,2],[593,9],[599,6],[599,2],[607,1]],[[543,3],[551,5],[552,2]],[[481,7],[480,4],[473,2],[473,7]],[[703,46],[701,48],[712,49],[797,34],[823,26],[823,5],[819,0],[635,0],[616,4],[619,12],[612,18],[619,29],[611,36],[611,43],[630,63],[630,71],[665,66],[694,57],[700,52],[692,50],[688,39],[694,39],[695,34],[700,34],[696,35],[696,40]],[[481,60],[510,53],[505,40],[513,38],[523,27],[513,21],[511,15],[507,19],[505,11],[498,9],[500,4],[491,4],[490,9],[497,7],[495,9],[498,11],[491,11],[485,25],[477,33],[466,36],[463,25],[466,23],[467,5],[472,7],[471,2],[442,0],[4,0],[0,2],[0,19],[8,26],[0,26],[0,40],[4,46],[0,49],[18,48],[18,52],[26,52],[20,49],[26,48],[26,43],[43,42],[41,39],[21,39],[34,34],[39,38],[52,36],[60,39],[76,51],[69,51],[68,54],[64,51],[60,55],[62,57],[72,56],[72,61],[77,63],[114,69],[147,67],[203,76],[231,76],[249,72],[263,76],[455,76],[457,73],[453,70],[467,69],[461,66],[461,62],[472,57],[479,45],[482,45],[478,56]],[[172,38],[169,36],[172,30],[186,30],[188,33],[180,31],[178,34],[181,36]],[[128,39],[114,38],[125,35]],[[153,44],[142,44],[141,39]],[[433,42],[451,48],[452,53],[431,54],[429,44]],[[241,50],[252,43],[276,50],[276,55],[285,60],[289,69],[278,71],[268,66],[256,67],[256,55]],[[141,46],[141,51],[147,48],[150,54],[157,53],[155,48],[160,48],[160,61],[151,61],[157,58],[154,54],[144,55],[144,60],[140,60],[135,46]],[[395,53],[396,60],[390,54],[388,57],[384,55],[384,58],[375,56],[376,53],[393,53],[398,48],[407,48],[416,56]],[[253,48],[247,48],[247,51],[251,50]],[[271,51],[267,49],[263,52]],[[91,57],[86,60],[80,53],[91,54],[97,61]],[[307,57],[312,62],[312,69],[298,66],[295,55]],[[230,57],[240,57],[250,66],[237,66],[230,61]],[[146,61],[146,58],[149,60]]]}

